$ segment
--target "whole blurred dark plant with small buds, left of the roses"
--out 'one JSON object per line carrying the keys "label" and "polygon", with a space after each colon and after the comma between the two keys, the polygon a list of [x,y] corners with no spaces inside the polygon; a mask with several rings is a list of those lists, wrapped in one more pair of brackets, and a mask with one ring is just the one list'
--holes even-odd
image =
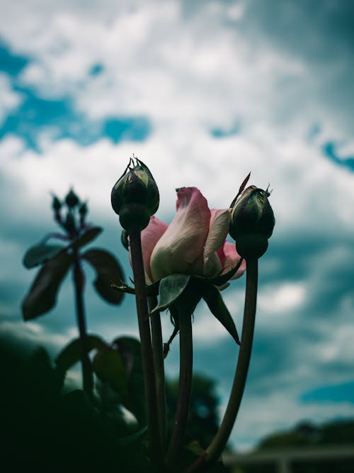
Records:
{"label": "whole blurred dark plant with small buds, left of the roses", "polygon": [[[122,301],[122,294],[111,289],[112,282],[123,279],[122,268],[116,258],[106,250],[90,248],[85,252],[81,251],[82,247],[91,243],[101,233],[102,228],[86,221],[88,206],[86,202],[80,201],[72,189],[64,201],[53,196],[52,210],[55,222],[62,231],[45,235],[40,243],[29,248],[23,258],[23,265],[28,269],[40,266],[23,300],[23,318],[25,321],[37,318],[55,307],[59,287],[67,273],[72,272],[79,339],[74,340],[68,350],[74,359],[79,352],[84,391],[91,396],[93,374],[89,351],[93,347],[101,348],[105,345],[100,338],[86,333],[85,277],[81,262],[86,261],[93,267],[96,272],[96,292],[110,304],[120,304]],[[60,243],[49,243],[51,240]]]}

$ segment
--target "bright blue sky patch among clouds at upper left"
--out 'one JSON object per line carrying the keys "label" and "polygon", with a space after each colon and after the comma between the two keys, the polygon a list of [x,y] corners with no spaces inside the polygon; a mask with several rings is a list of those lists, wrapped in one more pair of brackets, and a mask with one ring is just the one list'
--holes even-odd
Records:
{"label": "bright blue sky patch among clouds at upper left", "polygon": [[[0,128],[0,140],[6,135],[16,135],[25,145],[40,152],[40,135],[50,133],[52,140],[69,138],[81,146],[89,146],[101,138],[117,144],[122,140],[143,141],[152,131],[148,118],[144,116],[108,116],[91,120],[81,111],[76,111],[71,96],[59,99],[43,98],[38,91],[25,87],[18,74],[28,65],[30,58],[14,55],[0,40],[0,70],[8,74],[13,91],[22,97],[21,103],[4,118]],[[89,75],[96,77],[103,72],[103,65],[96,63]]]}

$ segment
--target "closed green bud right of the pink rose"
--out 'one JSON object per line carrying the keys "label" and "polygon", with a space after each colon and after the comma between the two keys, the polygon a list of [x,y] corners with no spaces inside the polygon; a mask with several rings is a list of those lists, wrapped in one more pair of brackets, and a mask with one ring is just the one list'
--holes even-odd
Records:
{"label": "closed green bud right of the pink rose", "polygon": [[269,192],[248,187],[232,208],[229,234],[236,242],[237,252],[244,258],[261,257],[268,248],[275,218]]}

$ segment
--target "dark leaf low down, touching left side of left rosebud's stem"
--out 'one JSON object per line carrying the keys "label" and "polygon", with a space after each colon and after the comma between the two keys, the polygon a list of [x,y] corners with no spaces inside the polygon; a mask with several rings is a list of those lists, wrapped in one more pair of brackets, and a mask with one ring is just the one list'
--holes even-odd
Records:
{"label": "dark leaf low down, touching left side of left rosebud's stem", "polygon": [[128,377],[129,399],[125,407],[137,418],[139,425],[146,424],[144,377],[139,340],[132,337],[119,337],[113,341],[125,364]]}

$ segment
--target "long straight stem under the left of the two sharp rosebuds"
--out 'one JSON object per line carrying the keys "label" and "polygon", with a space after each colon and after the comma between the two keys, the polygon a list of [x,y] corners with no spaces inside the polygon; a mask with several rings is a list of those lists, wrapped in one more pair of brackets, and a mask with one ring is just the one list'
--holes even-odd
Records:
{"label": "long straight stem under the left of the two sharp rosebuds", "polygon": [[137,318],[142,352],[142,369],[144,374],[145,396],[147,399],[149,452],[152,459],[156,460],[159,457],[159,424],[156,404],[154,358],[152,355],[152,337],[150,333],[149,310],[147,307],[144,262],[142,260],[142,240],[140,238],[139,230],[130,230],[129,234],[130,251],[132,254],[132,270],[135,282],[135,301],[137,304]]}

